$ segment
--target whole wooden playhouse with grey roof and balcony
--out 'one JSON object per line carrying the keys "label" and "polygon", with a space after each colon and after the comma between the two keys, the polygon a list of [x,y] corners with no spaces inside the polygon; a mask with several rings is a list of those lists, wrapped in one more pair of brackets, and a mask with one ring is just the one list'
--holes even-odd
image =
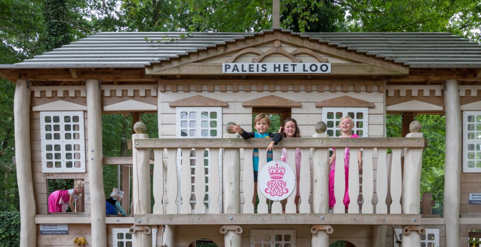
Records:
{"label": "whole wooden playhouse with grey roof and balcony", "polygon": [[[2,78],[16,84],[22,247],[72,246],[76,237],[96,247],[188,247],[197,239],[219,247],[327,247],[337,240],[380,247],[396,246],[396,236],[403,247],[456,247],[468,246],[469,229],[481,229],[474,204],[481,193],[478,43],[449,33],[280,28],[180,35],[98,33],[0,66]],[[251,201],[250,157],[253,148],[265,157],[266,141],[225,130],[228,122],[251,130],[260,112],[293,117],[302,131],[274,152],[279,159],[287,148],[293,158],[301,148],[303,157],[301,203],[291,195],[285,213],[261,193],[256,209]],[[133,157],[102,157],[101,117],[109,113],[132,113],[135,121],[156,113],[160,138],[138,126]],[[420,213],[427,141],[415,123],[409,130],[416,113],[446,117],[443,218]],[[403,114],[405,137],[385,137],[386,114]],[[344,115],[363,138],[335,138]],[[320,121],[327,130],[316,128]],[[362,174],[350,169],[347,211],[327,203],[333,147],[363,148]],[[113,164],[123,165],[123,207],[132,198],[131,217],[105,215],[102,166]],[[48,212],[50,179],[84,181],[81,212]],[[342,189],[335,193],[342,198]]]}

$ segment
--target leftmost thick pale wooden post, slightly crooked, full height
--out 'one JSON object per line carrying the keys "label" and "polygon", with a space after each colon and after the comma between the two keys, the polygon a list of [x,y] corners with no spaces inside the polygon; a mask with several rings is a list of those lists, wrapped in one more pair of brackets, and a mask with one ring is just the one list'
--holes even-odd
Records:
{"label": "leftmost thick pale wooden post, slightly crooked, full height", "polygon": [[20,199],[21,247],[37,245],[37,225],[35,224],[37,209],[33,191],[30,150],[30,94],[29,82],[17,80],[13,98],[13,116],[15,119],[15,163]]}

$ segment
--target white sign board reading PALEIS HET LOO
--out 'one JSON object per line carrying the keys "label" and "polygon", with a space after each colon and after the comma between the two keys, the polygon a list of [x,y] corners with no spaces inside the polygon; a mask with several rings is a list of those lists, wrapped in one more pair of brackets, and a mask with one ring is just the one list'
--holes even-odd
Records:
{"label": "white sign board reading PALEIS HET LOO", "polygon": [[329,62],[224,62],[224,74],[326,74]]}

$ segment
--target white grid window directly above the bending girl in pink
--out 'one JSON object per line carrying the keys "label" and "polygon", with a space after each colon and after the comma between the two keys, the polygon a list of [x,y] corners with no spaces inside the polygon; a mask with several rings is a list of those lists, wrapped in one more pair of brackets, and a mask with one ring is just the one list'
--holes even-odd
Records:
{"label": "white grid window directly above the bending girl in pink", "polygon": [[83,111],[40,111],[43,173],[85,173]]}

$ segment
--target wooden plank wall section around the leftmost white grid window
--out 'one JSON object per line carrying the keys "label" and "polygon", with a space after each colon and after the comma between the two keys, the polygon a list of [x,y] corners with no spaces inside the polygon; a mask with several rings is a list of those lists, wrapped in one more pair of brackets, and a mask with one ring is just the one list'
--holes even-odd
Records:
{"label": "wooden plank wall section around the leftmost white grid window", "polygon": [[[86,106],[87,100],[82,97],[73,98],[34,98],[31,99],[31,107],[63,100],[71,103]],[[85,148],[88,157],[88,136],[87,136],[87,111],[84,111],[84,128],[85,128]],[[88,159],[86,158],[86,173],[42,173],[42,158],[41,158],[41,143],[40,143],[40,112],[30,112],[30,143],[32,148],[32,175],[34,183],[35,202],[37,207],[37,214],[48,213],[48,190],[47,179],[83,179],[85,182],[85,194],[83,195],[85,202],[85,214],[90,214],[90,189],[89,189],[89,170]],[[74,185],[72,185],[73,188]],[[71,188],[65,188],[71,189]]]}

